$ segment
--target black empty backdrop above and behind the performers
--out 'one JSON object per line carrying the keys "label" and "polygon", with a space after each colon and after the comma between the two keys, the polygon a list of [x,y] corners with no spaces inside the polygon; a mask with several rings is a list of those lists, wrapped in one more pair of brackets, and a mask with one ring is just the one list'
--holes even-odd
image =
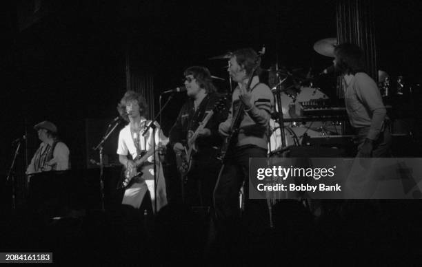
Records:
{"label": "black empty backdrop above and behind the performers", "polygon": [[[335,2],[6,1],[1,16],[4,176],[12,157],[10,143],[27,127],[33,135],[29,148],[37,147],[32,127],[41,120],[57,124],[72,151],[72,166],[85,167],[90,149],[86,127],[95,121],[101,133],[107,120],[117,116],[125,92],[126,54],[137,70],[154,76],[156,99],[182,85],[183,70],[191,65],[205,65],[227,78],[227,62],[208,58],[241,47],[260,50],[265,45],[263,67],[279,63],[320,72],[332,58],[312,47],[336,36]],[[419,83],[421,3],[377,1],[375,6],[379,69]],[[221,92],[228,89],[227,82],[217,85]],[[184,98],[177,96],[165,110],[166,134]],[[113,144],[108,151],[115,149]]]}

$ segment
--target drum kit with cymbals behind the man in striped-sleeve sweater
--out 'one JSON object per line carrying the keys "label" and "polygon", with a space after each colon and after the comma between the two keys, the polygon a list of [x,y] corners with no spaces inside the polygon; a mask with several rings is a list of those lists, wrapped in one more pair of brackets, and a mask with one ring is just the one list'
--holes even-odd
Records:
{"label": "drum kit with cymbals behind the man in striped-sleeve sweater", "polygon": [[[323,39],[314,44],[314,50],[324,56],[334,57],[335,38]],[[210,60],[229,60],[231,52],[212,56]],[[275,112],[270,120],[270,142],[268,144],[271,153],[279,153],[283,147],[301,145],[304,136],[318,137],[332,134],[332,122],[303,120],[294,121],[295,118],[303,118],[303,104],[314,100],[328,100],[320,88],[312,86],[312,76],[303,73],[301,67],[279,67],[278,63],[268,69],[261,69],[268,73],[267,84],[277,100]],[[232,92],[232,81],[230,81],[230,92]],[[310,83],[310,85],[306,85]],[[281,109],[279,108],[281,107]],[[290,120],[281,123],[281,120]]]}

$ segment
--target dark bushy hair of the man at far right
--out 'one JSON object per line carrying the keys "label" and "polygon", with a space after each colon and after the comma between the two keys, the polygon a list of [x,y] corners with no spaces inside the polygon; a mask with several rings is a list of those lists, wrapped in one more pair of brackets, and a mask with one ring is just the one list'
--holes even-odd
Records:
{"label": "dark bushy hair of the man at far right", "polygon": [[336,68],[342,74],[365,72],[365,61],[361,47],[352,43],[342,43],[334,48]]}

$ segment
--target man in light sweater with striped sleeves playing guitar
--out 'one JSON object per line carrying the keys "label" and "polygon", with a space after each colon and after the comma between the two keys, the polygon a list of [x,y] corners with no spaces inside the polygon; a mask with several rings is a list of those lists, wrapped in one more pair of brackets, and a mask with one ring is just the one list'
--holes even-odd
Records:
{"label": "man in light sweater with striped sleeves playing guitar", "polygon": [[[249,200],[248,172],[249,158],[266,158],[268,153],[268,122],[274,106],[274,96],[270,88],[259,82],[257,73],[251,76],[253,68],[260,58],[250,48],[237,50],[230,58],[228,72],[233,81],[238,83],[232,94],[232,107],[228,119],[219,125],[219,133],[228,136],[232,116],[242,102],[245,111],[242,114],[239,134],[234,138],[232,149],[228,151],[214,189],[214,208],[217,230],[228,238],[234,228],[239,229],[239,190],[244,184],[245,213],[243,222],[248,229],[265,228],[268,225],[268,207],[265,200]],[[249,78],[252,78],[250,89]],[[228,233],[228,235],[226,235]]]}

